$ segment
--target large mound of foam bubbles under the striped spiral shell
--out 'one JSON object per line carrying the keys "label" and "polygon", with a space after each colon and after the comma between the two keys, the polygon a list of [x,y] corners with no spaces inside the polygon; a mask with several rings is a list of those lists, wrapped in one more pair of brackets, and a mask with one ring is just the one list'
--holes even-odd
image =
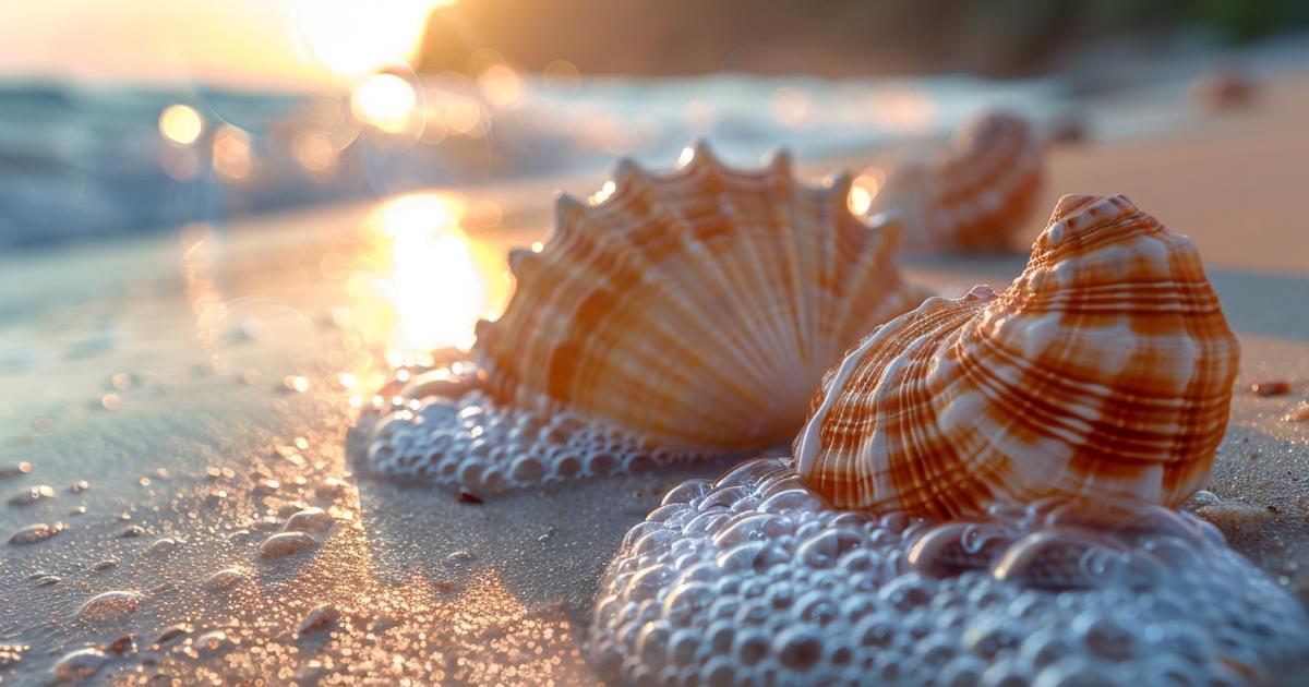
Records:
{"label": "large mound of foam bubbles under the striped spiral shell", "polygon": [[620,684],[1244,684],[1309,616],[1203,521],[1038,502],[932,523],[829,508],[788,459],[674,488],[605,572]]}

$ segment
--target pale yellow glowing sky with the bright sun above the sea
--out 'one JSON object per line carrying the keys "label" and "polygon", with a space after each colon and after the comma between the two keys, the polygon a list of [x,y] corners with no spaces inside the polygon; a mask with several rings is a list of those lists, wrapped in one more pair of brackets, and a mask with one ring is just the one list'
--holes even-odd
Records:
{"label": "pale yellow glowing sky with the bright sun above the sea", "polygon": [[453,0],[5,0],[0,79],[350,85],[411,56]]}

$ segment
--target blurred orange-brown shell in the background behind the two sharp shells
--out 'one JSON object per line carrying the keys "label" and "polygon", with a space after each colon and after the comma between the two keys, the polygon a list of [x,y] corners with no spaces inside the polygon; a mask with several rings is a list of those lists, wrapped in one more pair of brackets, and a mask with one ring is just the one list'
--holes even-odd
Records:
{"label": "blurred orange-brown shell in the background behind the two sharp shells", "polygon": [[949,149],[894,169],[870,212],[903,217],[908,253],[1004,250],[1041,190],[1042,145],[1007,114],[974,119]]}

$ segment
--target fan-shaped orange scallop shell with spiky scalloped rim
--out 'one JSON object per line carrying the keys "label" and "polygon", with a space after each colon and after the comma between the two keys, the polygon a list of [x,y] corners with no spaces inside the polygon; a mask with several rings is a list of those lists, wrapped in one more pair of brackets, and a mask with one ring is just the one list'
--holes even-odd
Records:
{"label": "fan-shaped orange scallop shell with spiky scalloped rim", "polygon": [[678,454],[776,445],[850,345],[922,301],[898,226],[853,216],[848,178],[812,188],[785,153],[757,171],[687,154],[669,175],[619,162],[607,198],[560,198],[543,249],[511,255],[517,291],[475,347],[495,398]]}

